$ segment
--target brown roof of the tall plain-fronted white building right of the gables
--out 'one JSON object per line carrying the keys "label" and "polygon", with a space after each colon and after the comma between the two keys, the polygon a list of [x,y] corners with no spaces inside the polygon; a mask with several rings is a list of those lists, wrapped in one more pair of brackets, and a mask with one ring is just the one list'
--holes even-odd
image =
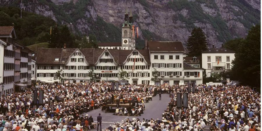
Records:
{"label": "brown roof of the tall plain-fronted white building right of the gables", "polygon": [[148,41],[147,43],[149,50],[154,52],[185,52],[185,49],[180,41]]}

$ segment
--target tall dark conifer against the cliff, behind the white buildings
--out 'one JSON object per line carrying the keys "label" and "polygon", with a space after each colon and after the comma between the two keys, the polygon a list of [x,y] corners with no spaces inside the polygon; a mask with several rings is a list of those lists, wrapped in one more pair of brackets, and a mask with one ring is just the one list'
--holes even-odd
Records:
{"label": "tall dark conifer against the cliff, behind the white buildings", "polygon": [[200,56],[202,51],[208,49],[206,35],[200,27],[192,30],[187,40],[187,49],[189,56]]}

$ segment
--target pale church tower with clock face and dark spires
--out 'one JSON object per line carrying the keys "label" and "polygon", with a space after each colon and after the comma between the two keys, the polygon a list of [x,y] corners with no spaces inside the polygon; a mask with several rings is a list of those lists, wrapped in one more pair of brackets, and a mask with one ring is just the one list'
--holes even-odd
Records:
{"label": "pale church tower with clock face and dark spires", "polygon": [[128,10],[125,10],[125,19],[122,26],[122,49],[135,49],[135,29],[133,26],[133,16],[132,11],[130,9],[130,15],[128,14]]}

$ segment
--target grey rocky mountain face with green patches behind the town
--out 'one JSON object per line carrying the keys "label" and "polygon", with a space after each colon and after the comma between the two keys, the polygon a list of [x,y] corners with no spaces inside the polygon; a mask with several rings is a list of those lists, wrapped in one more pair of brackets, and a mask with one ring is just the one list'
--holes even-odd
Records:
{"label": "grey rocky mountain face with green patches behind the town", "polygon": [[[20,0],[0,0],[21,6]],[[260,23],[260,0],[23,0],[24,10],[66,24],[77,33],[93,33],[101,42],[120,42],[126,7],[144,38],[181,41],[185,47],[194,27],[206,33],[209,46],[245,37]]]}

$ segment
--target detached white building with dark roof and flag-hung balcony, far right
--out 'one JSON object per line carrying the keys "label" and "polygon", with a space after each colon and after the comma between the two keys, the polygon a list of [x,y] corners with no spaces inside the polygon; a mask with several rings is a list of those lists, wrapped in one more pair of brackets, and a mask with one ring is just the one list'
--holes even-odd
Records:
{"label": "detached white building with dark roof and flag-hung balcony, far right", "polygon": [[219,74],[222,70],[232,68],[235,52],[225,48],[211,48],[202,52],[202,68],[206,69],[207,77],[211,73]]}

